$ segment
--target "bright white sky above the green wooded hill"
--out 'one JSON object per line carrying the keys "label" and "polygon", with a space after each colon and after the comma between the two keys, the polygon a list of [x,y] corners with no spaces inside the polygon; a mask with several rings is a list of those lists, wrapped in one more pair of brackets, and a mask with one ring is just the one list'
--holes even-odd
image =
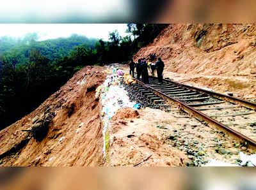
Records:
{"label": "bright white sky above the green wooded hill", "polygon": [[20,37],[27,33],[38,33],[40,40],[47,40],[81,34],[107,41],[109,32],[115,29],[120,36],[127,36],[127,24],[0,24],[0,36]]}

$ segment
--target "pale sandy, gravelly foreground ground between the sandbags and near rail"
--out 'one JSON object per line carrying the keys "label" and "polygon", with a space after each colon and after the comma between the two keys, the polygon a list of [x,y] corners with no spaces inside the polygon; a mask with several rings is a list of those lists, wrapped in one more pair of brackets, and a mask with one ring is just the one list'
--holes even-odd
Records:
{"label": "pale sandy, gravelly foreground ground between the sandbags and near rail", "polygon": [[[119,66],[125,72],[127,66]],[[166,76],[167,71],[164,73]],[[188,76],[172,75],[170,78],[180,82]],[[185,79],[186,78],[186,79]],[[205,81],[196,85],[205,87]],[[184,84],[189,84],[184,82]],[[227,82],[223,84],[228,85]],[[191,84],[190,84],[191,85]],[[214,87],[209,83],[207,87]],[[221,85],[221,90],[225,85]],[[226,86],[227,87],[227,86]],[[238,86],[239,87],[239,86]],[[176,109],[176,110],[175,110]],[[176,106],[171,112],[159,109],[142,108],[140,118],[124,119],[111,122],[111,166],[202,166],[210,159],[231,164],[239,164],[239,152],[255,154],[253,147],[244,145],[241,139],[227,131],[209,126],[180,112]],[[120,112],[126,112],[120,110]],[[122,114],[121,114],[122,115]],[[120,124],[125,121],[127,124]],[[150,156],[150,157],[149,157]],[[149,157],[149,158],[148,158]],[[148,159],[147,159],[148,158]],[[143,162],[145,159],[147,161]],[[141,162],[142,161],[142,162]]]}

